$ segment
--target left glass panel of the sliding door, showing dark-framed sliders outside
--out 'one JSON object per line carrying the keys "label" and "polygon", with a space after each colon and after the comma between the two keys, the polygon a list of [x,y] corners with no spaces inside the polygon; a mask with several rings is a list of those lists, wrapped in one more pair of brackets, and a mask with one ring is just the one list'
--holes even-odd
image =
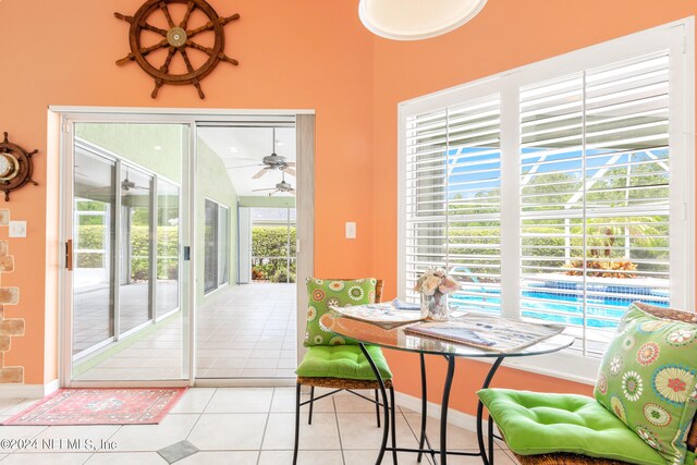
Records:
{"label": "left glass panel of the sliding door, showing dark-framed sliders outside", "polygon": [[189,133],[73,123],[73,381],[188,378]]}

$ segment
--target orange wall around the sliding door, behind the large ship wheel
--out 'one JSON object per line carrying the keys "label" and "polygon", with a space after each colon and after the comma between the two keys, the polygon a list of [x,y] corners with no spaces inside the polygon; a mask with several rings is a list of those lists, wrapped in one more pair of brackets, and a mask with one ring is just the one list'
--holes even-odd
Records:
{"label": "orange wall around the sliding door, behind the large ship wheel", "polygon": [[[13,339],[5,362],[25,367],[26,383],[57,376],[58,154],[47,134],[49,105],[315,109],[316,272],[370,273],[372,36],[355,2],[209,2],[219,14],[242,15],[225,27],[225,51],[240,66],[221,63],[203,82],[201,101],[193,87],[172,86],[152,100],[152,81],[137,65],[114,64],[127,52],[129,25],[113,12],[133,14],[143,0],[0,0],[0,131],[40,150],[40,185],[17,191],[8,204],[12,219],[28,221],[28,236],[10,240],[16,271],[2,282],[21,287],[20,305],[5,315],[26,318],[26,335]],[[358,223],[357,240],[343,238],[345,221]]]}

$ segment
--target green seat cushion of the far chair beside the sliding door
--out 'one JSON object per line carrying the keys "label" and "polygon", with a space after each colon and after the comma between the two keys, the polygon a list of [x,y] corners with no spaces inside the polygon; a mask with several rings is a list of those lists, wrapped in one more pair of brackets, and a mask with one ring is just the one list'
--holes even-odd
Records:
{"label": "green seat cushion of the far chair beside the sliding door", "polygon": [[[366,348],[382,379],[392,379],[392,372],[380,347],[367,345]],[[370,363],[357,345],[315,345],[308,347],[307,354],[303,357],[295,374],[306,378],[376,380]]]}

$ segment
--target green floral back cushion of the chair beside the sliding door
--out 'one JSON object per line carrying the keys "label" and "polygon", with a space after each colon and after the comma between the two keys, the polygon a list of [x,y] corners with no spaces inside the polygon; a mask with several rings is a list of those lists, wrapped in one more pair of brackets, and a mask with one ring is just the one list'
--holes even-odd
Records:
{"label": "green floral back cushion of the chair beside the sliding door", "polygon": [[348,307],[351,305],[372,304],[375,302],[375,286],[377,280],[372,278],[342,281],[307,280],[307,330],[305,331],[305,346],[356,344],[356,341],[337,335],[319,323],[320,318],[329,306]]}

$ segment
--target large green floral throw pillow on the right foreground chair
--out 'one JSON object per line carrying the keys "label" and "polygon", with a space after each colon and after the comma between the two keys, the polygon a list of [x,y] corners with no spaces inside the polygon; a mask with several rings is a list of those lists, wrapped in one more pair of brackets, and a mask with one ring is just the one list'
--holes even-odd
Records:
{"label": "large green floral throw pillow on the right foreground chair", "polygon": [[668,464],[682,464],[697,409],[697,325],[632,304],[602,359],[595,396]]}

